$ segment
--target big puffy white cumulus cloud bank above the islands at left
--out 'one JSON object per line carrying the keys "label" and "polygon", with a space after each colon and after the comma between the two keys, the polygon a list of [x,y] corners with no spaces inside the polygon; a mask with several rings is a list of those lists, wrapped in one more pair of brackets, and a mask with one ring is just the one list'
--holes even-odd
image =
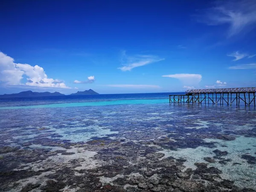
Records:
{"label": "big puffy white cumulus cloud bank above the islands at left", "polygon": [[[0,81],[6,85],[29,85],[37,87],[69,88],[58,79],[49,79],[44,69],[38,65],[15,63],[14,59],[0,52]],[[21,80],[26,76],[26,83]]]}

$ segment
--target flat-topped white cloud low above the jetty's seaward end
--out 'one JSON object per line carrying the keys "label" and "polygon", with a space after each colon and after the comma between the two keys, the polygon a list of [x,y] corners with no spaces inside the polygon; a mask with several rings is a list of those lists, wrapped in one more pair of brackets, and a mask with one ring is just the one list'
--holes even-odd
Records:
{"label": "flat-topped white cloud low above the jetty's seaward end", "polygon": [[202,80],[202,75],[189,74],[189,73],[163,75],[162,77],[170,77],[170,78],[179,79],[186,86],[195,86]]}

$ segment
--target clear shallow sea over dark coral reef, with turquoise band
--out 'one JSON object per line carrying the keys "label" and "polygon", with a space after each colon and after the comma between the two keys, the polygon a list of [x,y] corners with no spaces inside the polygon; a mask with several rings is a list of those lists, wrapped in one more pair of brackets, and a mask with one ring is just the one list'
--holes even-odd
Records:
{"label": "clear shallow sea over dark coral reef, with turquoise band", "polygon": [[255,192],[256,108],[169,94],[0,98],[0,191]]}

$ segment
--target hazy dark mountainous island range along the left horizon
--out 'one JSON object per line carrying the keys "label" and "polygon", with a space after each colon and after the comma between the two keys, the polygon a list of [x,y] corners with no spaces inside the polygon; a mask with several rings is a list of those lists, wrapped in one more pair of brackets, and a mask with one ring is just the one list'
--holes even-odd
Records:
{"label": "hazy dark mountainous island range along the left horizon", "polygon": [[[70,94],[70,96],[73,95],[99,95],[99,93],[96,93],[94,90],[85,90],[85,91],[78,91],[77,93],[72,93]],[[0,95],[0,97],[28,97],[28,96],[65,96],[62,93],[59,92],[54,92],[54,93],[50,93],[50,92],[33,92],[31,90],[28,91],[22,91],[20,93],[12,93],[12,94],[3,94]]]}

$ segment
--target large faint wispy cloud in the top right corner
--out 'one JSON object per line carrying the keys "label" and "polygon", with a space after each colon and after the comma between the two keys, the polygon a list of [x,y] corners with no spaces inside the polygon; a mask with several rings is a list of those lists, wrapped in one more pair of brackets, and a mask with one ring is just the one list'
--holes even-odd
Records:
{"label": "large faint wispy cloud in the top right corner", "polygon": [[215,1],[212,8],[204,11],[198,21],[207,25],[229,25],[229,37],[254,27],[256,23],[255,0]]}

